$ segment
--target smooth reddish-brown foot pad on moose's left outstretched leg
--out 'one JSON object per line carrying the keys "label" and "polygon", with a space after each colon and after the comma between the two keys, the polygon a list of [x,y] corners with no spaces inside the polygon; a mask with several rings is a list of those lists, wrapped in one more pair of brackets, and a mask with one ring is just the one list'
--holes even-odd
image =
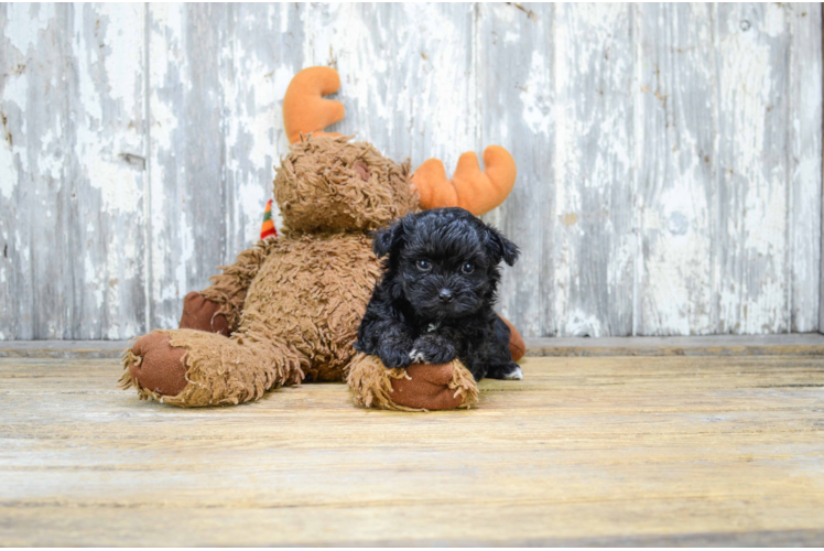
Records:
{"label": "smooth reddish-brown foot pad on moose's left outstretched leg", "polygon": [[173,347],[170,341],[165,333],[150,333],[132,346],[127,367],[140,388],[162,396],[177,396],[186,388],[186,349]]}

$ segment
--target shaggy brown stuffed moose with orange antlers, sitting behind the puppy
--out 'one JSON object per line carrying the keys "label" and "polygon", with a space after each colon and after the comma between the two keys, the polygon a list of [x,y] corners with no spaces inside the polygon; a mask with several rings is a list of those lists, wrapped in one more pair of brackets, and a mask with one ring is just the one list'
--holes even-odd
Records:
{"label": "shaggy brown stuffed moose with orange antlers, sitting behind the puppy", "polygon": [[[476,215],[512,190],[516,165],[502,148],[464,153],[452,180],[434,159],[410,176],[368,142],[323,132],[344,117],[329,67],[300,72],[283,118],[291,150],[274,179],[282,235],[241,252],[191,292],[180,328],[138,338],[123,354],[123,388],[180,407],[237,404],[308,381],[348,381],[355,403],[421,411],[468,408],[478,400],[469,371],[441,366],[387,369],[353,344],[380,277],[369,233],[410,212],[462,206]],[[523,339],[510,326],[514,359]]]}

